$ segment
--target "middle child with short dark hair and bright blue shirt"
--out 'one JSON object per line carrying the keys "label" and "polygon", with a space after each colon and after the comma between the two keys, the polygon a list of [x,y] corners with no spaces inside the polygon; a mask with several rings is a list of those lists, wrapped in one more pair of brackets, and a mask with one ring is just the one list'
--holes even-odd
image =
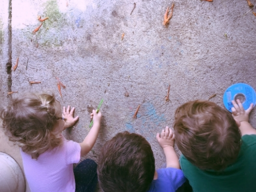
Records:
{"label": "middle child with short dark hair and bright blue shirt", "polygon": [[150,144],[141,135],[118,133],[104,144],[99,156],[98,178],[104,192],[176,191],[185,182],[174,150],[174,134],[169,127],[157,133],[167,165],[155,171]]}

